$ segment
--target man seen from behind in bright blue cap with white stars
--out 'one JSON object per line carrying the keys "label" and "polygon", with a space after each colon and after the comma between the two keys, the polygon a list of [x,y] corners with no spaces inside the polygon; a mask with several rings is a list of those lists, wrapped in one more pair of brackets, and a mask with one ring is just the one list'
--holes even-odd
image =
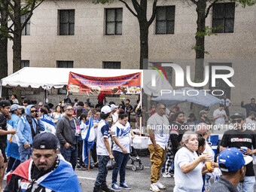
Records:
{"label": "man seen from behind in bright blue cap with white stars", "polygon": [[[218,157],[218,166],[221,169],[221,177],[215,182],[209,192],[238,192],[239,182],[245,178],[245,170],[252,157],[243,156],[238,148],[226,148]],[[253,191],[253,190],[251,190]]]}

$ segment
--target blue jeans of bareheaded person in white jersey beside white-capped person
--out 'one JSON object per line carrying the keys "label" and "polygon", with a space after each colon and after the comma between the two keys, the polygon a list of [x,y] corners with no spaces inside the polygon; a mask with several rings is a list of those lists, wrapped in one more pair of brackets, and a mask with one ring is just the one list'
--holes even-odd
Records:
{"label": "blue jeans of bareheaded person in white jersey beside white-capped person", "polygon": [[130,159],[130,154],[123,154],[119,151],[113,151],[114,160],[117,162],[117,166],[114,168],[112,173],[112,184],[117,182],[118,172],[120,174],[120,184],[125,181],[125,169]]}

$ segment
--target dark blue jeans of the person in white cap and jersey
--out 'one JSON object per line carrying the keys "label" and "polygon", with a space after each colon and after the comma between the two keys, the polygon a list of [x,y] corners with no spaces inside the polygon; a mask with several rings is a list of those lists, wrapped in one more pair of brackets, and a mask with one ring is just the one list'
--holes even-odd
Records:
{"label": "dark blue jeans of the person in white cap and jersey", "polygon": [[108,175],[107,164],[110,157],[107,155],[98,155],[98,175],[94,186],[99,187],[107,183],[106,178]]}

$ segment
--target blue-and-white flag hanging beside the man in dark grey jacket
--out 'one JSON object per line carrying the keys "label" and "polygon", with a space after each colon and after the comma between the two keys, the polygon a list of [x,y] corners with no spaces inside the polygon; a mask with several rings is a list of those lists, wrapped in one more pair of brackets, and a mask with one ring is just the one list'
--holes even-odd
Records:
{"label": "blue-and-white flag hanging beside the man in dark grey jacket", "polygon": [[[83,145],[83,161],[84,163],[89,163],[89,150],[90,148],[93,148],[95,141],[95,133],[94,133],[94,126],[93,126],[93,114],[90,115],[90,120],[88,123],[88,129],[87,129],[87,135],[84,139],[84,145]],[[90,162],[91,164],[91,162]]]}

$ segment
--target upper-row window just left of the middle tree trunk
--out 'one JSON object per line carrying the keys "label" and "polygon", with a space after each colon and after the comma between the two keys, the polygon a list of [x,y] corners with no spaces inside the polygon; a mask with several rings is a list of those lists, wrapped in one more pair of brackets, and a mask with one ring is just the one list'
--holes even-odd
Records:
{"label": "upper-row window just left of the middle tree trunk", "polygon": [[105,10],[105,35],[122,35],[123,8]]}

